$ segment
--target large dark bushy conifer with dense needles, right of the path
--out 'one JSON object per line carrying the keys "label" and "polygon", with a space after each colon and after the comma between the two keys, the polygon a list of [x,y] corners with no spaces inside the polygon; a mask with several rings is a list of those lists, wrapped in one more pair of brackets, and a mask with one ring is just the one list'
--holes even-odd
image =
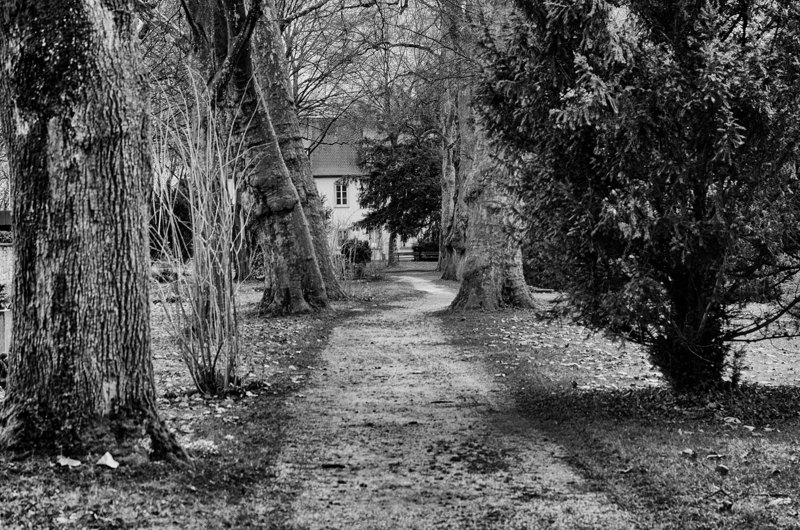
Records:
{"label": "large dark bushy conifer with dense needles, right of the path", "polygon": [[794,333],[798,35],[797,2],[694,0],[518,2],[486,34],[478,101],[542,256],[678,390],[735,379],[737,340]]}

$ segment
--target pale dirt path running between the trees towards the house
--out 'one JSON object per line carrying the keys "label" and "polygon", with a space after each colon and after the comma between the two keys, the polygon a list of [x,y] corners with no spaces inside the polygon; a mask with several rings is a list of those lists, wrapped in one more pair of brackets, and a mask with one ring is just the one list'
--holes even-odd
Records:
{"label": "pale dirt path running between the trees towards the house", "polygon": [[300,491],[294,527],[637,528],[450,346],[430,312],[455,291],[434,278],[396,277],[419,296],[330,336],[278,457],[279,480]]}

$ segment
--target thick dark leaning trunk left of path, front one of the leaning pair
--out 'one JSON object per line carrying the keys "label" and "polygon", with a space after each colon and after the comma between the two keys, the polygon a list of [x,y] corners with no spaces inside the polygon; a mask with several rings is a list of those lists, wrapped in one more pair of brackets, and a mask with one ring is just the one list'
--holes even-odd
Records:
{"label": "thick dark leaning trunk left of path, front one of the leaning pair", "polygon": [[[265,289],[261,310],[299,313],[328,306],[306,216],[302,211],[253,75],[250,30],[262,2],[194,0],[194,50],[210,79],[208,90],[230,113],[231,130],[246,167],[242,204],[264,250]],[[213,35],[212,42],[209,41]]]}

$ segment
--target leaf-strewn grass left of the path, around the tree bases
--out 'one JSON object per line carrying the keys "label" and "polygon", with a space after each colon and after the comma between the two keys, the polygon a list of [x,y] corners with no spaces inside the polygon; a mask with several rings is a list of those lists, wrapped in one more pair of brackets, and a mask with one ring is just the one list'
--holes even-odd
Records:
{"label": "leaf-strewn grass left of the path, around the tree bases", "polygon": [[294,492],[275,480],[274,460],[286,410],[302,399],[330,330],[351,309],[373,307],[386,284],[347,285],[353,296],[326,313],[263,318],[254,313],[257,283],[238,295],[247,375],[238,395],[206,399],[192,385],[166,321],[154,307],[153,350],[158,404],[168,426],[195,457],[194,471],[136,456],[119,468],[95,465],[100,455],[0,453],[0,528],[285,528]]}

